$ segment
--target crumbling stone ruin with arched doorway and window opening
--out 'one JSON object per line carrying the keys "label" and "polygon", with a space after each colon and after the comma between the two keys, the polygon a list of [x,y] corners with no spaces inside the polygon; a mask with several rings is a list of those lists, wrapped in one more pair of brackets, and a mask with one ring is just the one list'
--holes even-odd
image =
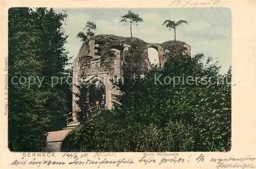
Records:
{"label": "crumbling stone ruin with arched doorway and window opening", "polygon": [[[177,45],[181,46],[177,50]],[[96,35],[89,41],[85,41],[73,65],[73,92],[78,90],[75,84],[78,84],[81,75],[86,75],[90,81],[90,87],[99,91],[98,98],[94,98],[95,93],[89,93],[90,102],[104,97],[106,108],[112,107],[112,94],[118,94],[118,90],[113,86],[113,78],[121,78],[125,69],[131,69],[143,73],[151,68],[148,59],[147,49],[153,47],[158,52],[161,68],[168,59],[170,53],[173,55],[182,54],[185,57],[190,56],[190,46],[185,42],[166,41],[159,43],[147,43],[139,38],[119,37],[115,35]],[[172,56],[173,56],[172,55]],[[78,109],[77,98],[73,94],[73,111]],[[75,112],[73,113],[75,116]],[[75,119],[75,117],[73,118]]]}

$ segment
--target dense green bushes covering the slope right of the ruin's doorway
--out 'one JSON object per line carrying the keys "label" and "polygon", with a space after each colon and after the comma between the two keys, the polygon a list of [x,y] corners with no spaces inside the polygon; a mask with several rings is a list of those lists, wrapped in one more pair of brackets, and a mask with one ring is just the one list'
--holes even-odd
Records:
{"label": "dense green bushes covering the slope right of the ruin's doorway", "polygon": [[203,54],[167,57],[147,79],[126,74],[121,104],[86,120],[67,142],[87,152],[229,151],[231,69],[220,75],[217,64],[203,64]]}

